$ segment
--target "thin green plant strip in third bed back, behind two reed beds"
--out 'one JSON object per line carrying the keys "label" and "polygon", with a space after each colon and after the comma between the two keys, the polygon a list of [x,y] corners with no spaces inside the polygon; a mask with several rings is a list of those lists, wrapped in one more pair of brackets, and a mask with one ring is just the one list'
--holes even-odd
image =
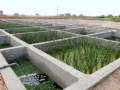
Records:
{"label": "thin green plant strip in third bed back, behind two reed beds", "polygon": [[10,34],[14,34],[14,33],[25,33],[25,32],[36,32],[36,31],[45,31],[46,29],[43,28],[17,28],[17,29],[6,29],[6,31]]}

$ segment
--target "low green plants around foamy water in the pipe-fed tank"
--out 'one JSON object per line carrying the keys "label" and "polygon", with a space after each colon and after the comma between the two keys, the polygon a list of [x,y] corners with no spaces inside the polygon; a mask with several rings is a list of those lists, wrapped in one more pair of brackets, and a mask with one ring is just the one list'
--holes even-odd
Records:
{"label": "low green plants around foamy water in the pipe-fed tank", "polygon": [[[12,69],[18,77],[32,73],[44,74],[35,65],[33,65],[30,61],[27,61],[26,59],[17,61],[17,64],[18,66],[12,66]],[[27,90],[62,90],[61,88],[55,86],[54,81],[50,78],[48,79],[48,81],[46,81],[46,83],[41,83],[39,85],[24,84],[24,86]]]}

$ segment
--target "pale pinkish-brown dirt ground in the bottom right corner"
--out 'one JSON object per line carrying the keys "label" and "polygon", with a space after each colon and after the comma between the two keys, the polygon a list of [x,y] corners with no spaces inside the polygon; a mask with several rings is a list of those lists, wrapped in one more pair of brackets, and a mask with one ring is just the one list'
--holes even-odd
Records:
{"label": "pale pinkish-brown dirt ground in the bottom right corner", "polygon": [[91,90],[120,90],[120,69]]}

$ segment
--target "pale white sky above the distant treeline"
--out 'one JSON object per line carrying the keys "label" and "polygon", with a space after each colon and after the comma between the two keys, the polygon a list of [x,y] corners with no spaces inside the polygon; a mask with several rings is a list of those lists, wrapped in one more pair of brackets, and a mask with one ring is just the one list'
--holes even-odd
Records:
{"label": "pale white sky above the distant treeline", "polygon": [[0,0],[0,10],[5,14],[57,15],[57,6],[59,14],[120,14],[120,0]]}

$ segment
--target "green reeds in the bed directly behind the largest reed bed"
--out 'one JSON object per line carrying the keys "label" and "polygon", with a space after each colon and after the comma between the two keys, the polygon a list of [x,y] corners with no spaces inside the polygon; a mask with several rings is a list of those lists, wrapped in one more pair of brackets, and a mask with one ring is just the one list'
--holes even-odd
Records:
{"label": "green reeds in the bed directly behind the largest reed bed", "polygon": [[51,31],[51,32],[38,32],[38,33],[28,33],[27,35],[23,35],[21,40],[33,44],[33,43],[40,43],[40,42],[45,42],[45,41],[52,41],[52,40],[57,40],[57,39],[63,39],[63,38],[68,38],[72,37],[71,34],[66,34],[66,33],[59,33],[56,31]]}

